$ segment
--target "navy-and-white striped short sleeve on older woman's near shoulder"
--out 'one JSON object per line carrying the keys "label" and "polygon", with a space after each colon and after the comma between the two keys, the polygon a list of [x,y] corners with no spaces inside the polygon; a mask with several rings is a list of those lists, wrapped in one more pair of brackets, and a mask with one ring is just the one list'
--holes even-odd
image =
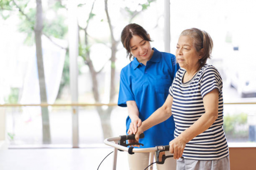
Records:
{"label": "navy-and-white striped short sleeve on older woman's near shoulder", "polygon": [[222,94],[222,79],[216,68],[209,66],[201,76],[201,95],[202,98],[213,89],[218,89],[219,97]]}

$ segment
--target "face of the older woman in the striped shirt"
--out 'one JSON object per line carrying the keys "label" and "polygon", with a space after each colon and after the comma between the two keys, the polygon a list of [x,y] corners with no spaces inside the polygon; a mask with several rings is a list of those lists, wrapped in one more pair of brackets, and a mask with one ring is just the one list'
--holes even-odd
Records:
{"label": "face of the older woman in the striped shirt", "polygon": [[176,59],[180,67],[186,70],[198,69],[200,65],[198,60],[201,56],[194,48],[191,37],[180,36],[176,48]]}

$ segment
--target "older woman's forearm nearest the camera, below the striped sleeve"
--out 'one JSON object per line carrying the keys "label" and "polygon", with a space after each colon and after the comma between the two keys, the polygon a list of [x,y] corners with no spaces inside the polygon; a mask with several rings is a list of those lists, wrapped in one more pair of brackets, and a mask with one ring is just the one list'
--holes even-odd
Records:
{"label": "older woman's forearm nearest the camera, below the striped sleeve", "polygon": [[204,113],[192,126],[182,132],[178,138],[188,143],[194,137],[207,130],[217,118],[218,113]]}

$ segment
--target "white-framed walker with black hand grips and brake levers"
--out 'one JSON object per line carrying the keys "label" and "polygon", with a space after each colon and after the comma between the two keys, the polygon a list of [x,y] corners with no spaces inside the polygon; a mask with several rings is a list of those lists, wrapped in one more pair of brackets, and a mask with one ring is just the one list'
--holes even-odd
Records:
{"label": "white-framed walker with black hand grips and brake levers", "polygon": [[[144,134],[140,135],[143,138]],[[133,148],[127,147],[129,145],[143,145],[140,143],[127,144],[126,140],[135,139],[135,135],[122,135],[119,137],[109,137],[104,140],[104,144],[114,147],[114,157],[113,157],[113,170],[116,170],[117,162],[117,150],[126,151],[129,154],[134,154],[135,152],[149,152],[149,166],[145,167],[145,170],[153,170],[153,164],[164,164],[165,159],[173,157],[172,155],[165,155],[165,151],[169,151],[169,145],[166,146],[155,146],[153,148]],[[156,154],[156,162],[153,162],[154,154]],[[104,160],[104,159],[103,159]]]}

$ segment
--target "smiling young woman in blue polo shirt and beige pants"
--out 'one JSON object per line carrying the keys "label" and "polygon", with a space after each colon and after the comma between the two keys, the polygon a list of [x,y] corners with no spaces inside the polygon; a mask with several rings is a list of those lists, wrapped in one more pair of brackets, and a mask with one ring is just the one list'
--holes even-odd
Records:
{"label": "smiling young woman in blue polo shirt and beige pants", "polygon": [[[163,105],[179,66],[174,55],[151,48],[149,34],[137,24],[124,27],[121,41],[127,56],[133,60],[121,70],[118,105],[128,107],[126,130],[128,134],[135,134],[141,122]],[[168,145],[174,138],[174,129],[171,116],[145,131],[145,137],[140,140],[144,146],[140,147]],[[128,161],[131,170],[145,169],[149,153],[128,154]],[[176,161],[166,159],[163,165],[157,164],[157,169],[175,170]]]}

